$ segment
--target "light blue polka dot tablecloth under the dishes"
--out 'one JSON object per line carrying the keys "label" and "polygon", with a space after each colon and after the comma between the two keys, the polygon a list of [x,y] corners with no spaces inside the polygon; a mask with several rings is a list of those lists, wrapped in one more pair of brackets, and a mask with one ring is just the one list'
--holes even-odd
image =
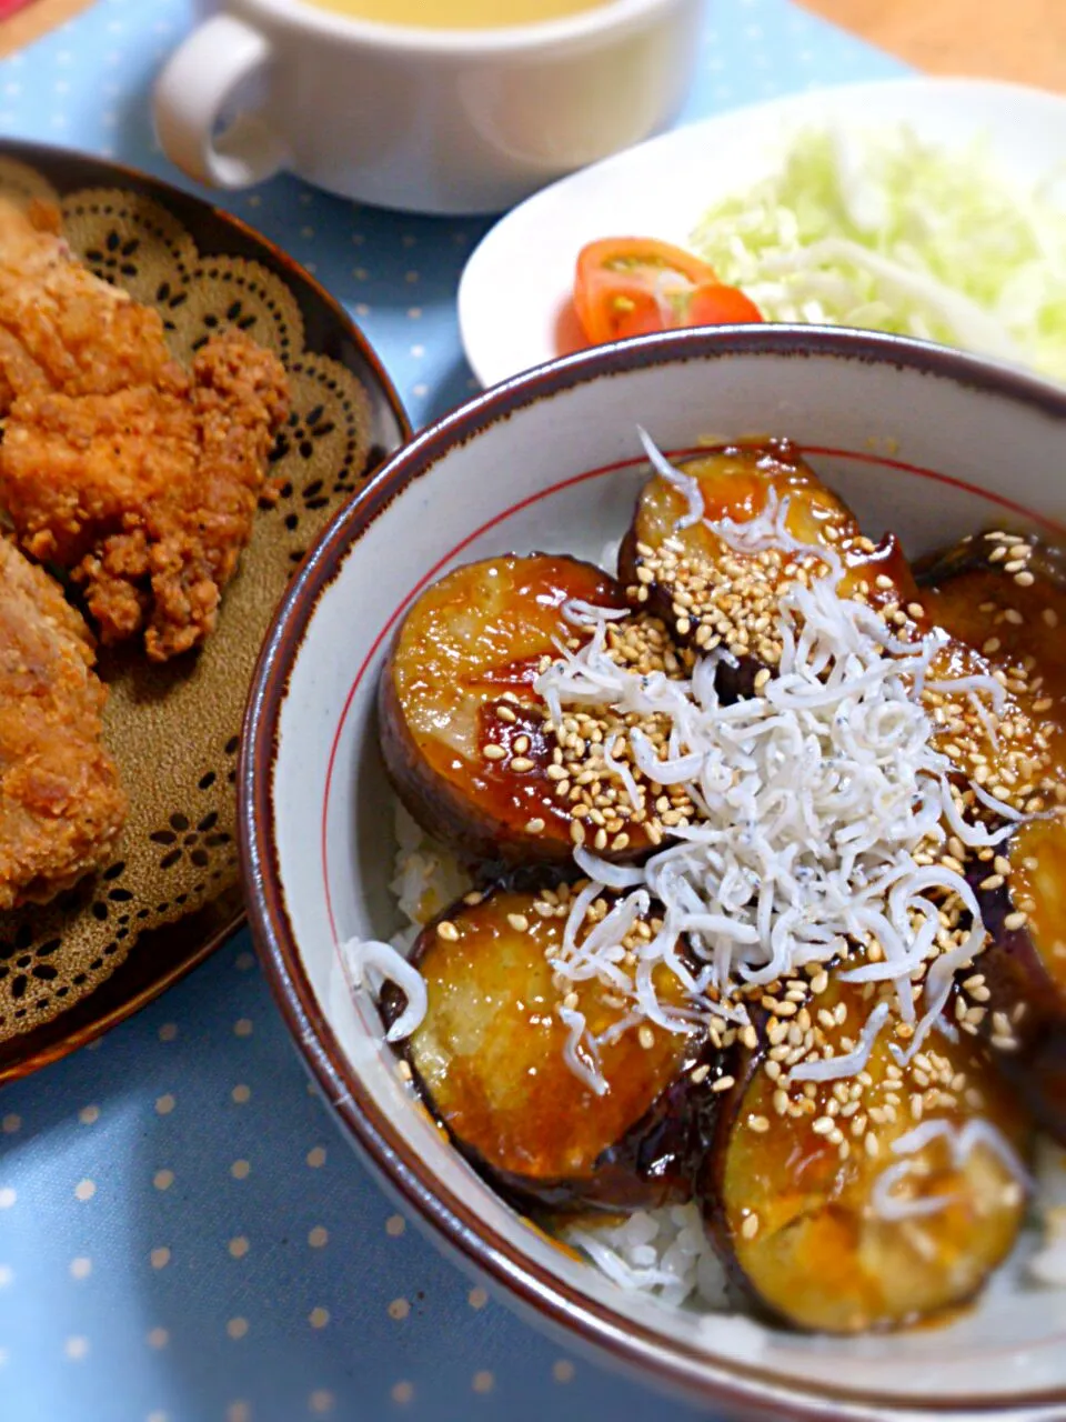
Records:
{"label": "light blue polka dot tablecloth under the dishes", "polygon": [[[188,0],[97,0],[0,64],[0,134],[181,182],[148,112],[190,23]],[[787,0],[712,0],[679,122],[900,70]],[[455,293],[488,223],[289,178],[227,206],[344,301],[415,425],[472,388]],[[246,933],[0,1091],[0,1422],[696,1415],[569,1357],[397,1213],[308,1086]]]}

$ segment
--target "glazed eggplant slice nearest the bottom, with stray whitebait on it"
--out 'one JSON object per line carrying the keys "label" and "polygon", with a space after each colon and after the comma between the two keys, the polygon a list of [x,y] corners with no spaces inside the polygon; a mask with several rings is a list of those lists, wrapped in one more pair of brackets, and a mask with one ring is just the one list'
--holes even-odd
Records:
{"label": "glazed eggplant slice nearest the bottom, with stray whitebait on it", "polygon": [[[837,1055],[870,1000],[830,984],[809,1010],[817,1024],[841,1008]],[[787,1072],[768,1074],[766,1045],[743,1054],[698,1177],[733,1278],[796,1328],[890,1330],[961,1304],[1022,1221],[1025,1187],[1008,1160],[1025,1128],[1012,1094],[971,1039],[934,1032],[900,1068],[891,1031],[861,1075],[837,1081],[787,1085]]]}

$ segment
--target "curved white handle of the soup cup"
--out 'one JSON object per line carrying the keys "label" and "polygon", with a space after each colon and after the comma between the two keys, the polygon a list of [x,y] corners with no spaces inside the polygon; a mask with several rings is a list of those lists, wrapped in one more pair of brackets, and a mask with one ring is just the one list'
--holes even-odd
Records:
{"label": "curved white handle of the soup cup", "polygon": [[240,114],[216,132],[239,87],[264,74],[270,41],[232,14],[216,14],[175,50],[155,85],[155,128],[163,152],[209,188],[249,188],[289,156],[262,112]]}

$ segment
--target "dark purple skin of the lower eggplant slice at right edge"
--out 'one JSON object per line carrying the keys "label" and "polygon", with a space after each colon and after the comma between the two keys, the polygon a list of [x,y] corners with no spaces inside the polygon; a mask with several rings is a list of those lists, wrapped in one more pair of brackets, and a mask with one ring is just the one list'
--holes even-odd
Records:
{"label": "dark purple skin of the lower eggplant slice at right edge", "polygon": [[[1029,924],[1006,927],[1015,913],[1009,883],[981,889],[986,873],[988,865],[978,863],[967,877],[992,941],[959,977],[984,975],[989,997],[981,1004],[986,1012],[979,1034],[1036,1121],[1066,1146],[1066,991],[1049,973]],[[1066,924],[1063,930],[1066,936]],[[1011,1022],[1006,1038],[995,1030],[998,1012]]]}

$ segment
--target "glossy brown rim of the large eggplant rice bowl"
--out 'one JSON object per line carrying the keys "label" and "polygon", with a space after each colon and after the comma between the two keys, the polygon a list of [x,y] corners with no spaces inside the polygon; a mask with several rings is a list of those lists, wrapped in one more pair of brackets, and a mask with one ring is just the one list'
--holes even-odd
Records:
{"label": "glossy brown rim of the large eggplant rice bowl", "polygon": [[[333,582],[352,543],[414,479],[429,472],[455,445],[465,444],[490,424],[536,404],[560,390],[587,384],[661,361],[718,360],[766,353],[809,358],[830,356],[867,364],[914,370],[949,378],[976,390],[995,391],[1059,418],[1066,427],[1066,390],[1045,384],[1023,371],[995,365],[947,347],[867,331],[814,327],[721,327],[715,331],[679,331],[648,336],[567,356],[515,375],[476,395],[422,431],[388,461],[361,495],[341,510],[310,550],[263,644],[252,683],[242,738],[237,792],[237,836],[252,930],[267,980],[300,1052],[344,1123],[377,1169],[448,1243],[505,1284],[527,1308],[557,1327],[570,1328],[586,1344],[605,1351],[617,1362],[635,1367],[661,1385],[695,1394],[746,1415],[780,1419],[860,1422],[944,1416],[968,1409],[995,1416],[1011,1412],[1012,1422],[1050,1422],[1062,1418],[1066,1392],[1025,1396],[885,1398],[814,1384],[782,1384],[779,1376],[749,1365],[725,1367],[699,1349],[665,1340],[642,1324],[623,1320],[605,1305],[588,1300],[522,1253],[432,1175],[404,1143],[392,1122],[379,1112],[348,1066],[303,970],[296,937],[286,912],[277,869],[271,781],[277,749],[277,724],[286,697],[289,671],[298,656],[304,629],[323,592]],[[1025,1412],[1018,1411],[1025,1408]],[[1048,1408],[1057,1408],[1049,1412]]]}

